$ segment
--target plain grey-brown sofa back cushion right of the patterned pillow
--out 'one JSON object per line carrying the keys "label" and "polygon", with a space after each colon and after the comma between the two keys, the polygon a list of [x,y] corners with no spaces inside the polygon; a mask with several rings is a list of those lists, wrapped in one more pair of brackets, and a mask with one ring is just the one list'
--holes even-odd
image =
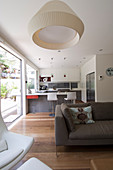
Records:
{"label": "plain grey-brown sofa back cushion right of the patterned pillow", "polygon": [[113,120],[113,102],[91,104],[94,120]]}

